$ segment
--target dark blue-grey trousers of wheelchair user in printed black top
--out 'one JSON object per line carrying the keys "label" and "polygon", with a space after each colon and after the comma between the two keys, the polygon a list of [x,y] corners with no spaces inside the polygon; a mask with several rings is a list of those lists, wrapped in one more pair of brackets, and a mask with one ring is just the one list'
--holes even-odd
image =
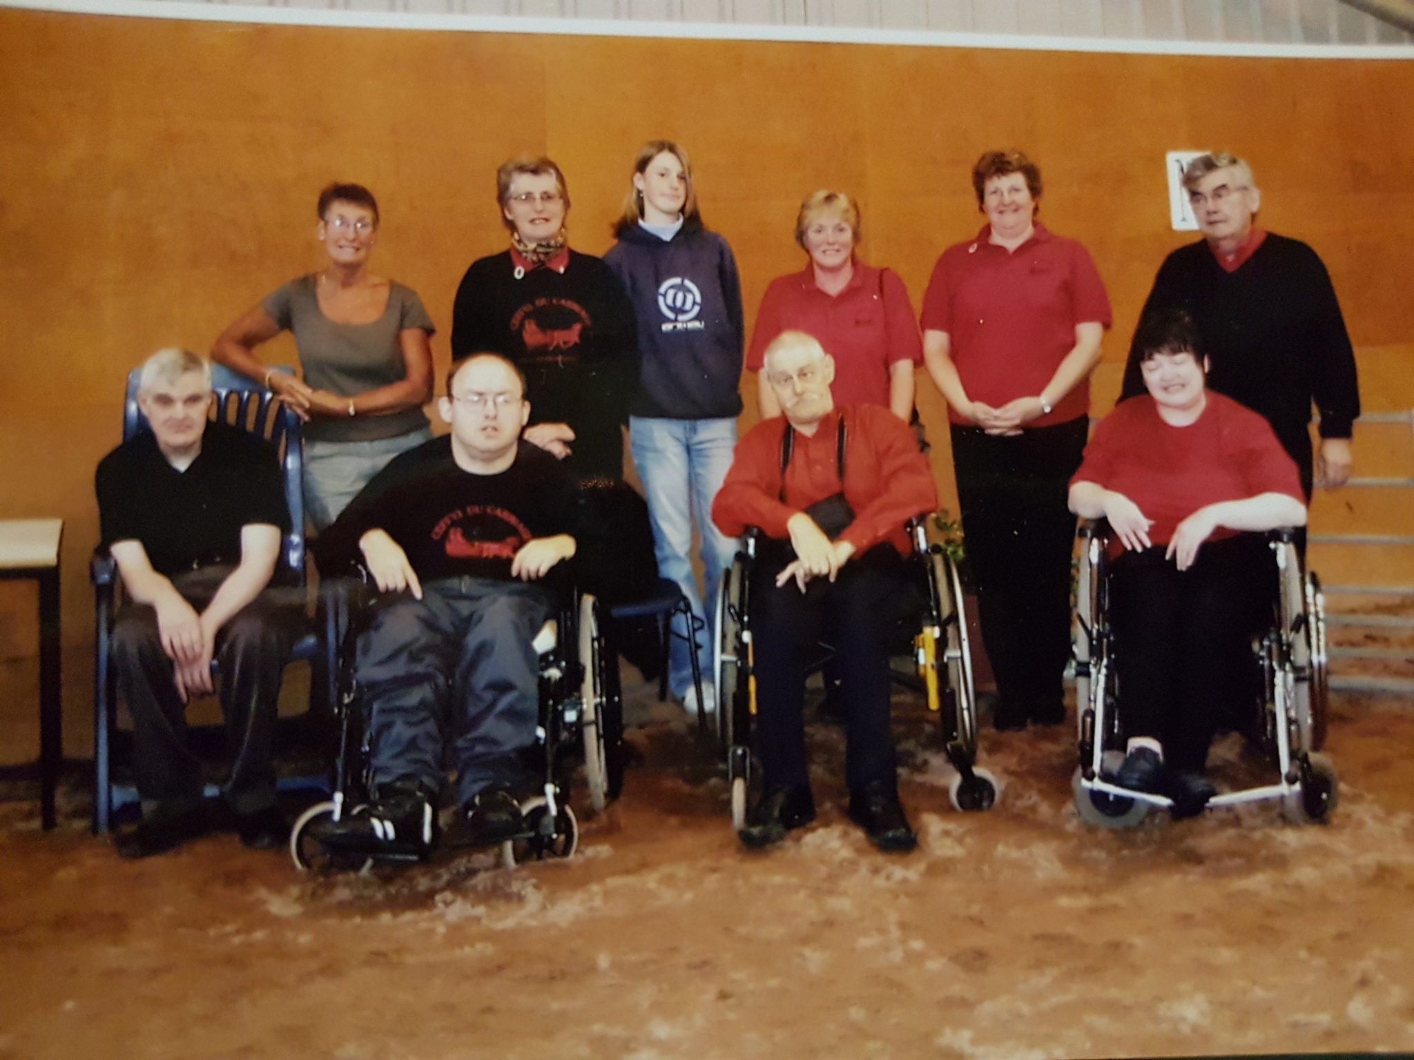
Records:
{"label": "dark blue-grey trousers of wheelchair user in printed black top", "polygon": [[520,752],[540,724],[532,642],[553,611],[544,587],[495,578],[441,578],[420,601],[400,594],[378,605],[356,670],[375,790],[440,791],[447,758],[462,804],[525,779]]}

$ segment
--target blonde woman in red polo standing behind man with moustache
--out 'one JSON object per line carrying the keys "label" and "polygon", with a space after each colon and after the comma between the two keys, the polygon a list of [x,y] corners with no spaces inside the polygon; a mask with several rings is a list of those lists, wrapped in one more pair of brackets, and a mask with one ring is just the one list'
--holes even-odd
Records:
{"label": "blonde woman in red polo standing behind man with moustache", "polygon": [[904,281],[855,257],[858,205],[844,192],[817,191],[800,204],[796,242],[810,263],[771,281],[747,352],[761,417],[781,414],[761,373],[766,346],[783,331],[803,331],[834,359],[836,403],[881,404],[906,423],[913,414],[913,365],[922,363],[923,348]]}

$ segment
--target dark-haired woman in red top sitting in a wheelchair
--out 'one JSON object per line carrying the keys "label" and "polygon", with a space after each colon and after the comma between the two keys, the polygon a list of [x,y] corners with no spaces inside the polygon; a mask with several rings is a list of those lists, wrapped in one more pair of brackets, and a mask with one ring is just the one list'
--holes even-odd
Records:
{"label": "dark-haired woman in red top sitting in a wheelchair", "polygon": [[1263,531],[1304,526],[1297,466],[1267,421],[1205,389],[1192,319],[1147,315],[1135,332],[1148,394],[1096,428],[1070,510],[1110,526],[1109,601],[1128,742],[1114,783],[1202,811],[1219,724],[1250,711],[1251,636],[1275,589]]}

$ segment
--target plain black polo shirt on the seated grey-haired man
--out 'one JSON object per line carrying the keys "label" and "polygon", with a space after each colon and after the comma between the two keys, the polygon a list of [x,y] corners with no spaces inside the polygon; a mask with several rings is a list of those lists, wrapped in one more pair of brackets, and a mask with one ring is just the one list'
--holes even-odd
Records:
{"label": "plain black polo shirt on the seated grey-haired man", "polygon": [[93,488],[103,544],[140,541],[158,574],[240,563],[243,526],[290,530],[277,449],[221,423],[206,424],[185,471],[150,431],[133,435],[99,462]]}

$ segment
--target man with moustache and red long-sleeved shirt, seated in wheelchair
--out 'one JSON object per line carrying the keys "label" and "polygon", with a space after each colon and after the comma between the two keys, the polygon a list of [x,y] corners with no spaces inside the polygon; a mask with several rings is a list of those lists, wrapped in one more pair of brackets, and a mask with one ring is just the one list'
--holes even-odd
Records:
{"label": "man with moustache and red long-sleeved shirt, seated in wheelchair", "polygon": [[836,408],[834,362],[799,331],[766,348],[762,375],[782,416],[742,437],[713,503],[730,537],[759,527],[752,636],[761,799],[738,832],[768,847],[814,820],[805,748],[806,664],[822,633],[837,646],[847,712],[850,817],[880,849],[918,840],[898,800],[888,653],[909,595],[905,523],[937,506],[912,431],[888,408]]}

